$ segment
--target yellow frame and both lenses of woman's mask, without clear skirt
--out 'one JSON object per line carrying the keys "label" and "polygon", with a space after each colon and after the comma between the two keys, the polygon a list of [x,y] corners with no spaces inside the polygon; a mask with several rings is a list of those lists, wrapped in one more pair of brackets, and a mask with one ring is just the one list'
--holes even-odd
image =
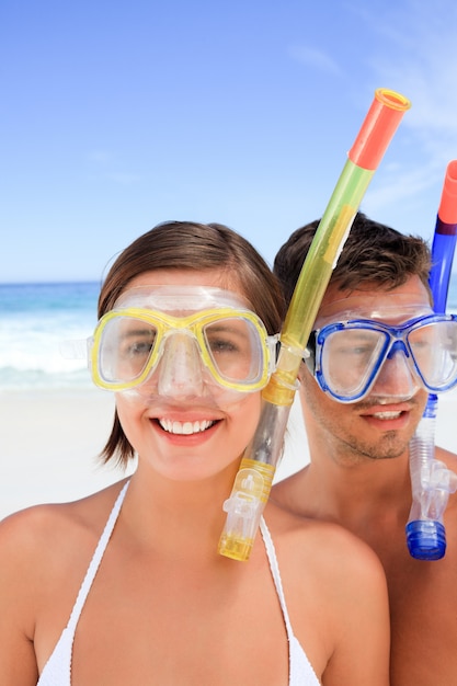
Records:
{"label": "yellow frame and both lenses of woman's mask, without clear skirt", "polygon": [[152,310],[142,315],[140,308],[125,313],[113,310],[100,321],[91,353],[93,380],[112,390],[144,384],[163,356],[168,368],[178,365],[175,355],[170,354],[174,350],[170,341],[181,340],[180,335],[194,341],[219,386],[249,392],[267,382],[267,335],[252,312],[224,317],[217,310],[204,310],[176,318]]}

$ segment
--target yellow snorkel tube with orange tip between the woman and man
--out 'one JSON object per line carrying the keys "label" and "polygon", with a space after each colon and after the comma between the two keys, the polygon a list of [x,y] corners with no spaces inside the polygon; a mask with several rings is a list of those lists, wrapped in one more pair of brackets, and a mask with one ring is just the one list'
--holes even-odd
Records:
{"label": "yellow snorkel tube with orange tip between the woman and man", "polygon": [[298,277],[281,334],[275,373],[262,392],[259,425],[244,451],[230,498],[219,553],[248,560],[269,500],[297,388],[297,376],[320,304],[369,182],[411,106],[391,90],[377,89]]}

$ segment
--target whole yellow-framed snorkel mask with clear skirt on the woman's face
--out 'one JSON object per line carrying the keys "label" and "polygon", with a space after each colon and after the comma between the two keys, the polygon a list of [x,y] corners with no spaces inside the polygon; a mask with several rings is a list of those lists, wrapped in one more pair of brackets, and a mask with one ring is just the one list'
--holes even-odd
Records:
{"label": "whole yellow-framed snorkel mask with clear skirt on the woman's face", "polygon": [[[207,286],[140,286],[123,293],[87,341],[95,386],[167,395],[180,384],[199,395],[247,393],[274,371],[277,335],[241,296]],[[199,389],[199,390],[198,390]]]}

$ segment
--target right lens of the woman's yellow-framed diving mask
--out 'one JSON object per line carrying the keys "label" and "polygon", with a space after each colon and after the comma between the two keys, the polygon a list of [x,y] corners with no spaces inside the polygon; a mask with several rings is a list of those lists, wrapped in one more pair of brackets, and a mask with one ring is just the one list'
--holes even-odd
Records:
{"label": "right lens of the woman's yellow-framed diving mask", "polygon": [[228,317],[207,323],[203,339],[216,378],[249,386],[266,374],[260,332],[249,319]]}

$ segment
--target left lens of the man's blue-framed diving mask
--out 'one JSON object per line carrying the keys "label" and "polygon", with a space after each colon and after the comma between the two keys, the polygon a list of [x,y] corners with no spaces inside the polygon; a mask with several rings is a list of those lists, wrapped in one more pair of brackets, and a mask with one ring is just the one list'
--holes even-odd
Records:
{"label": "left lens of the man's blue-framed diving mask", "polygon": [[323,336],[321,373],[330,392],[342,400],[363,396],[379,368],[387,342],[382,331],[358,328]]}

